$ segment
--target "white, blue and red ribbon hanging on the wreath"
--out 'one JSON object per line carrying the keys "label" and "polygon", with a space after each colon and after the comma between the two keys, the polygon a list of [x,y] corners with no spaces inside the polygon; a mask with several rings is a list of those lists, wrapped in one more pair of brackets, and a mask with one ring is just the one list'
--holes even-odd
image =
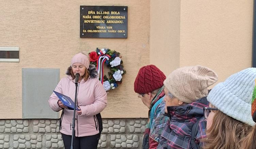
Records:
{"label": "white, blue and red ribbon hanging on the wreath", "polygon": [[98,78],[101,76],[101,84],[103,84],[103,73],[104,73],[104,69],[103,69],[103,64],[106,62],[106,60],[109,60],[111,58],[110,55],[108,54],[103,54],[102,51],[99,51],[98,52],[98,55],[100,55],[98,57],[98,60],[97,60],[97,71],[98,71]]}

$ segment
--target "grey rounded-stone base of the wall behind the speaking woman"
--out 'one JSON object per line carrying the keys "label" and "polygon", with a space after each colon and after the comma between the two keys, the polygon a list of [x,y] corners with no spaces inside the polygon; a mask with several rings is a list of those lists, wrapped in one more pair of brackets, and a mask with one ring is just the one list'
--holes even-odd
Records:
{"label": "grey rounded-stone base of the wall behind the speaking woman", "polygon": [[[146,118],[103,119],[99,149],[142,149]],[[64,149],[59,120],[0,120],[0,149]]]}

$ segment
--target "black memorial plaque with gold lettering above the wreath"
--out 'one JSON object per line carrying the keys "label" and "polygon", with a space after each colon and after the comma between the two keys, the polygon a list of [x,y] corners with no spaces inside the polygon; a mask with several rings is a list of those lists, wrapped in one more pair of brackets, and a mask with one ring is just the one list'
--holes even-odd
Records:
{"label": "black memorial plaque with gold lettering above the wreath", "polygon": [[80,6],[81,38],[127,38],[127,6]]}

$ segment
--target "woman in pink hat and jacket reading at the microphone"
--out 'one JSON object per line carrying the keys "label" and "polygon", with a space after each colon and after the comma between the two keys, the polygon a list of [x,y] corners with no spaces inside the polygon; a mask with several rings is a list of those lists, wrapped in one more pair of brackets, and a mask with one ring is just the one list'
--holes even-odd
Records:
{"label": "woman in pink hat and jacket reading at the microphone", "polygon": [[[75,74],[79,73],[77,106],[75,119],[74,149],[96,149],[102,129],[99,113],[107,106],[107,93],[97,78],[97,70],[90,65],[85,54],[76,54],[66,72],[55,88],[56,92],[75,98]],[[48,100],[53,111],[63,113],[60,120],[60,133],[62,134],[65,149],[70,149],[72,135],[73,111],[69,110],[53,93]]]}

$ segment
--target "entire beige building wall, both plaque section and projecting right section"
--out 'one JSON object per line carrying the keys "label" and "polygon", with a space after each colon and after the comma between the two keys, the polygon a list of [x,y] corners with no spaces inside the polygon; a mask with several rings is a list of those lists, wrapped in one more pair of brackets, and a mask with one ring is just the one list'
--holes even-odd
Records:
{"label": "entire beige building wall, both plaque section and projecting right section", "polygon": [[[128,6],[128,38],[81,39],[80,5]],[[166,75],[178,67],[204,65],[218,73],[219,81],[251,66],[252,0],[31,0],[1,6],[0,46],[20,47],[20,62],[0,63],[0,100],[9,105],[0,108],[0,118],[22,117],[21,68],[60,68],[64,77],[80,50],[105,47],[123,56],[128,73],[108,93],[102,115],[109,118],[147,116],[133,91],[144,65],[154,64]]]}

